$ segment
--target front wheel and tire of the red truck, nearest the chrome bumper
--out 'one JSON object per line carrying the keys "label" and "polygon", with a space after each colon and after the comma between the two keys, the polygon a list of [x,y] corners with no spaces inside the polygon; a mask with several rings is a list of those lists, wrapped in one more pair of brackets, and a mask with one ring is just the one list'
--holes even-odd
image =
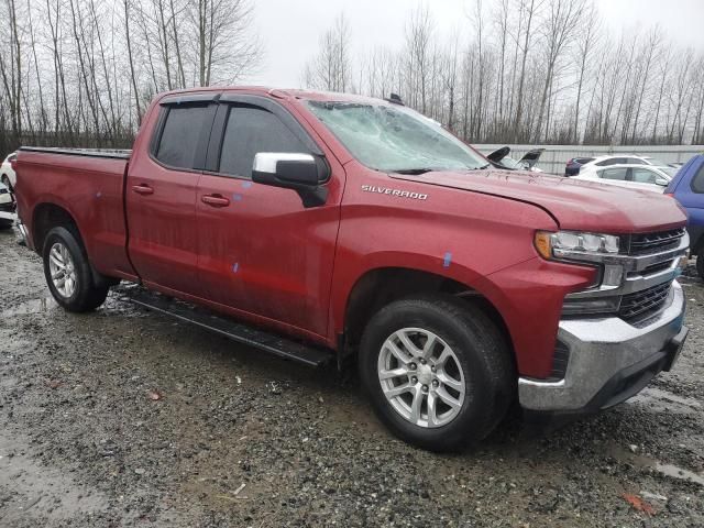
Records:
{"label": "front wheel and tire of the red truck, nearest the chrome bumper", "polygon": [[[425,360],[409,358],[403,334],[416,349],[432,336],[437,344]],[[402,353],[392,352],[389,342]],[[451,354],[444,354],[448,348]],[[362,336],[359,369],[380,419],[402,440],[430,451],[461,451],[482,440],[515,399],[515,366],[506,340],[483,311],[450,296],[398,300],[382,308]],[[395,374],[391,381],[380,377],[404,369],[408,374]],[[408,392],[395,396],[405,385],[410,385]],[[414,414],[417,397],[425,398],[425,405],[421,402]]]}

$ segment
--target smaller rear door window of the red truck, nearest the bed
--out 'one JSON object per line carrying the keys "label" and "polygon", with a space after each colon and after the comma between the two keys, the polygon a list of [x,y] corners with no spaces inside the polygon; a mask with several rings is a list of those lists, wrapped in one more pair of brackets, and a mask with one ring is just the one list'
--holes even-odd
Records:
{"label": "smaller rear door window of the red truck, nearest the bed", "polygon": [[196,151],[202,134],[206,106],[170,107],[154,156],[173,168],[194,168]]}

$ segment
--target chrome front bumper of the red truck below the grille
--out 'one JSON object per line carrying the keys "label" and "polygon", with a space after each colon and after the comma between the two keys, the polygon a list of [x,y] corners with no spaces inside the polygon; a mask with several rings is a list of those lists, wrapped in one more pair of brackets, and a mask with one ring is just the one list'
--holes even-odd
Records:
{"label": "chrome front bumper of the red truck below the grille", "polygon": [[659,372],[672,366],[686,339],[685,299],[676,280],[670,296],[667,308],[637,326],[618,317],[562,320],[558,340],[570,351],[564,378],[520,377],[521,407],[591,413],[640,392]]}

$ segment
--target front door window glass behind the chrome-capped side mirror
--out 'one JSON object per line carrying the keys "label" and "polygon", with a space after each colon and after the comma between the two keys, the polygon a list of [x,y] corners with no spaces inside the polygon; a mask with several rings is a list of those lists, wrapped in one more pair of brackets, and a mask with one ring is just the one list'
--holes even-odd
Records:
{"label": "front door window glass behind the chrome-capped side mirror", "polygon": [[232,107],[220,152],[220,173],[251,178],[257,152],[308,153],[308,148],[272,112]]}

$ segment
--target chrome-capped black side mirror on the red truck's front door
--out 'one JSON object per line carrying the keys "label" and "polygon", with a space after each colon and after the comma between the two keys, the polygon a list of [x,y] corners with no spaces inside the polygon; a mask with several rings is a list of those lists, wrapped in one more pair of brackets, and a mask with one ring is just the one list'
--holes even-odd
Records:
{"label": "chrome-capped black side mirror on the red truck's front door", "polygon": [[322,187],[330,177],[326,161],[311,154],[286,152],[258,152],[252,166],[252,182],[294,189],[304,207],[322,206],[328,199],[328,188]]}

